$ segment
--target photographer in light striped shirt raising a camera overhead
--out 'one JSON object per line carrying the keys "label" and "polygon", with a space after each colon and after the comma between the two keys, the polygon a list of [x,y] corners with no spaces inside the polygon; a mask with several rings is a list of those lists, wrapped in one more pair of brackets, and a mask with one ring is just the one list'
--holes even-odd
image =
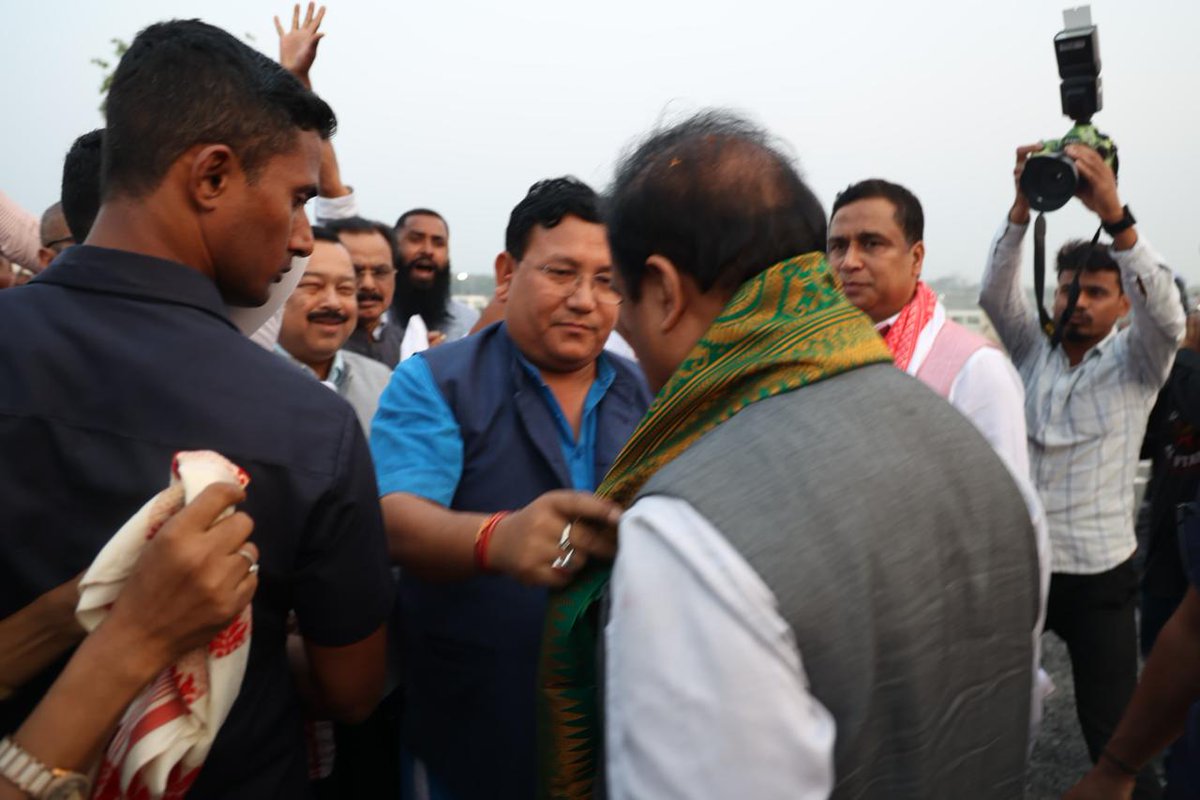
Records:
{"label": "photographer in light striped shirt raising a camera overhead", "polygon": [[[1062,331],[1054,341],[1048,336],[1020,285],[1030,222],[1020,179],[1040,150],[1042,144],[1016,150],[1016,199],[992,242],[979,305],[1025,383],[1030,465],[1050,527],[1045,627],[1070,651],[1076,712],[1096,762],[1111,758],[1105,745],[1138,680],[1134,471],[1184,320],[1171,271],[1134,227],[1110,163],[1088,146],[1069,144],[1064,152],[1080,178],[1075,197],[1099,217],[1112,243],[1068,242],[1058,252],[1054,318]],[[1079,299],[1063,319],[1076,272]],[[1128,327],[1115,330],[1130,312]],[[1142,770],[1135,796],[1159,792],[1153,772]]]}

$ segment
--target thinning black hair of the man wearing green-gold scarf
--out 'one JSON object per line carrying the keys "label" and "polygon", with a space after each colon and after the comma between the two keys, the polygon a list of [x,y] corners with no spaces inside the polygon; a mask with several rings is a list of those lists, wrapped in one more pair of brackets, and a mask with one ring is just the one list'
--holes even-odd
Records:
{"label": "thinning black hair of the man wearing green-gold scarf", "polygon": [[664,255],[702,291],[734,291],[763,270],[824,251],[824,210],[768,134],[728,112],[652,133],[617,166],[608,241],[636,300],[646,259]]}

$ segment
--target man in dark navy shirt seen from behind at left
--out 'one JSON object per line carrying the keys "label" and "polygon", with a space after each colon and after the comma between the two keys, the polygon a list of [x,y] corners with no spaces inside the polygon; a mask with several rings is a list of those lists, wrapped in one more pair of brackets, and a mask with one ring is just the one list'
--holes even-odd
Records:
{"label": "man in dark navy shirt seen from behind at left", "polygon": [[[304,798],[300,693],[336,718],[370,712],[394,588],[353,409],[242,337],[227,307],[263,303],[311,251],[304,205],[334,115],[191,20],[138,35],[107,118],[86,243],[0,295],[14,343],[0,350],[0,618],[86,567],[173,453],[223,453],[251,479],[260,583],[241,692],[188,798]],[[290,610],[304,674],[289,672]],[[4,732],[56,672],[0,703]]]}

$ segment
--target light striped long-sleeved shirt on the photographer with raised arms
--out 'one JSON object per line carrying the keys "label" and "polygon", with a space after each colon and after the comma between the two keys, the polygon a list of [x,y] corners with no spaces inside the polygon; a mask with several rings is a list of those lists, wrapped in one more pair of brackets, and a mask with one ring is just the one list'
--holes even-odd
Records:
{"label": "light striped long-sleeved shirt on the photographer with raised arms", "polygon": [[1027,225],[1006,222],[992,241],[979,305],[991,318],[1025,383],[1030,468],[1045,506],[1055,572],[1094,575],[1127,560],[1134,474],[1146,419],[1166,383],[1183,307],[1171,271],[1146,243],[1111,251],[1132,307],[1075,367],[1050,349],[1020,287]]}

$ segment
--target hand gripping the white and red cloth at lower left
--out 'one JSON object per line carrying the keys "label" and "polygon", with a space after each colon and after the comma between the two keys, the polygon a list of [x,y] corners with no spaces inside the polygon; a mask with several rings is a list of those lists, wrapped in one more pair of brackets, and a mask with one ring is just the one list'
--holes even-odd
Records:
{"label": "hand gripping the white and red cloth at lower left", "polygon": [[[146,543],[102,627],[121,627],[132,656],[151,674],[208,644],[246,607],[258,588],[258,548],[246,541],[254,523],[245,513],[216,518],[246,493],[214,483]],[[242,555],[245,553],[245,555]]]}

